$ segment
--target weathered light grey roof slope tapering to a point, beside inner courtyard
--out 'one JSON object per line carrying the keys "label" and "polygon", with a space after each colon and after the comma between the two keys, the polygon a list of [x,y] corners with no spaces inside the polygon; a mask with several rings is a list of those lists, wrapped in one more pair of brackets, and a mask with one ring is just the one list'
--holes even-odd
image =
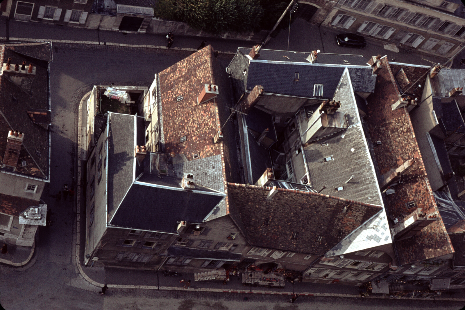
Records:
{"label": "weathered light grey roof slope tapering to a point, beside inner courtyard", "polygon": [[[338,111],[345,113],[349,128],[304,146],[312,187],[320,190],[325,186],[321,194],[382,205],[347,71],[341,77],[334,100],[340,100],[341,108]],[[326,146],[322,146],[324,142]],[[333,160],[325,161],[329,156]],[[340,186],[344,186],[344,189],[337,192],[335,188]]]}

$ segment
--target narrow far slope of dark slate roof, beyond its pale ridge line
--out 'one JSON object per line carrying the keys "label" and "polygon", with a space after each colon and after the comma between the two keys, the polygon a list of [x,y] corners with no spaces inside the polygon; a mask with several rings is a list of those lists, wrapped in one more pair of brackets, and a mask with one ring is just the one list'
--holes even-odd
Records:
{"label": "narrow far slope of dark slate roof, beyond its pale ridge line", "polygon": [[[238,50],[245,55],[248,55],[250,47],[238,47]],[[267,50],[262,48],[260,50],[259,60],[272,60],[284,62],[308,62],[307,58],[310,52],[289,52],[278,50]],[[345,62],[345,61],[347,62]],[[366,65],[366,59],[363,55],[350,55],[350,54],[334,54],[334,53],[318,53],[316,63],[330,64],[330,65]]]}

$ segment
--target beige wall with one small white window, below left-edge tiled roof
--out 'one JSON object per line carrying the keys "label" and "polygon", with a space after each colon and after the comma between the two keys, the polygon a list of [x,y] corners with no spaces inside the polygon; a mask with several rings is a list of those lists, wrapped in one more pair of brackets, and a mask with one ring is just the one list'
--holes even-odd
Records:
{"label": "beige wall with one small white window, below left-edge tiled roof", "polygon": [[[46,182],[31,178],[0,173],[0,193],[39,201]],[[35,185],[34,192],[28,191],[28,185]]]}

